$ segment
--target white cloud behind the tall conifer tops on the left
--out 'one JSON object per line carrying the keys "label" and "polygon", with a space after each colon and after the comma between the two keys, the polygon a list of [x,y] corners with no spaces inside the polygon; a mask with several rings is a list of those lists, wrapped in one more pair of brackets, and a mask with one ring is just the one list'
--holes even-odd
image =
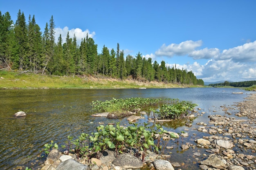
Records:
{"label": "white cloud behind the tall conifer tops on the left", "polygon": [[90,32],[88,29],[86,29],[85,31],[83,31],[80,28],[69,30],[69,28],[67,26],[65,26],[63,29],[61,29],[61,28],[56,28],[55,29],[55,42],[58,41],[58,38],[59,38],[60,35],[61,35],[61,38],[63,40],[63,43],[66,42],[67,32],[69,32],[70,38],[74,38],[74,35],[76,35],[76,42],[79,45],[81,43],[81,40],[83,38],[86,38],[87,34],[88,34],[89,38],[93,38],[94,35],[96,34],[94,31]]}

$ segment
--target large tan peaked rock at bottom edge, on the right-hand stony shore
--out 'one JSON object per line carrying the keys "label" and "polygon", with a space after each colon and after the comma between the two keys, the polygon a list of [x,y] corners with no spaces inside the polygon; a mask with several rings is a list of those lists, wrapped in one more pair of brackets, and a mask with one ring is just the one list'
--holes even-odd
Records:
{"label": "large tan peaked rock at bottom edge, on the right-hand stony shore", "polygon": [[227,161],[225,161],[224,159],[218,158],[215,154],[209,155],[207,159],[205,159],[204,161],[201,161],[200,163],[202,165],[207,165],[212,168],[219,168],[219,169],[227,168],[226,166]]}

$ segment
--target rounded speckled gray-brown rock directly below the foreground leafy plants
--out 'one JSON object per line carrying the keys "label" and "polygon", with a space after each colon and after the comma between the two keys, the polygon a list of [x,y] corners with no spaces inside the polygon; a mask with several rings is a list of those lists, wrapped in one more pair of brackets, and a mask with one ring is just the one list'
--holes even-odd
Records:
{"label": "rounded speckled gray-brown rock directly below the foreground leafy plants", "polygon": [[121,166],[126,169],[139,169],[143,167],[142,161],[129,153],[118,155],[112,164],[115,166]]}

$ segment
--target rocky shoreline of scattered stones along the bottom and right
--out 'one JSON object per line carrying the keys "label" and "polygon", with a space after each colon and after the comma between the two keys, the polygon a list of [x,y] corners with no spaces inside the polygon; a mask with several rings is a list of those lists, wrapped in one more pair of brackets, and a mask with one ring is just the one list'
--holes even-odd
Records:
{"label": "rocky shoreline of scattered stones along the bottom and right", "polygon": [[[236,105],[238,113],[232,115],[229,110],[234,108],[220,106],[225,112],[224,115],[210,115],[205,122],[199,122],[195,126],[186,124],[188,132],[182,133],[183,137],[191,136],[189,130],[197,130],[203,134],[202,138],[191,137],[193,141],[182,144],[181,149],[194,150],[193,164],[198,165],[202,170],[254,170],[256,169],[256,94],[252,94],[245,101]],[[198,116],[204,114],[198,109]],[[199,149],[200,148],[200,149]],[[168,149],[173,149],[168,147]],[[53,153],[52,153],[53,152]],[[53,150],[47,157],[47,160],[40,170],[66,170],[69,162],[79,163],[79,168],[74,170],[132,170],[147,167],[145,170],[182,170],[184,162],[171,162],[164,160],[170,155],[155,155],[153,152],[147,152],[144,165],[139,163],[137,157],[119,155],[118,159],[124,159],[126,164],[120,163],[115,159],[111,151],[106,151],[99,159],[90,160],[90,165],[86,160],[77,160],[75,155],[61,155],[58,150]],[[110,155],[112,155],[110,157]],[[130,154],[128,154],[130,155]],[[65,158],[64,158],[65,157]],[[69,160],[69,161],[67,161]],[[72,160],[72,161],[71,161]],[[132,163],[138,163],[139,166],[131,166]],[[141,162],[141,161],[140,161]],[[85,166],[85,164],[88,166]],[[130,165],[130,166],[127,166]],[[168,166],[166,166],[168,165]],[[74,167],[74,166],[72,166]],[[174,168],[173,168],[174,167]]]}

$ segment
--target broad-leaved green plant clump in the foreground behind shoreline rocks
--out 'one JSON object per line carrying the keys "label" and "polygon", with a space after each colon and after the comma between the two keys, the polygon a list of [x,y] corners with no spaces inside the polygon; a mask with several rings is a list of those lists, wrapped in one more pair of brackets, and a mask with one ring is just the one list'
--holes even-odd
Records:
{"label": "broad-leaved green plant clump in the foreground behind shoreline rocks", "polygon": [[[90,160],[92,157],[100,157],[103,150],[115,150],[116,156],[128,152],[133,152],[137,157],[142,155],[141,161],[144,161],[148,149],[158,153],[162,148],[159,145],[160,140],[167,131],[157,124],[153,127],[148,127],[146,123],[140,126],[131,124],[132,126],[126,128],[120,126],[119,122],[116,126],[101,125],[97,127],[97,132],[92,132],[91,135],[82,133],[77,139],[68,136],[62,146],[66,149],[64,153],[68,154],[70,150],[74,150],[77,159],[85,157]],[[176,137],[174,134],[170,136]]]}

